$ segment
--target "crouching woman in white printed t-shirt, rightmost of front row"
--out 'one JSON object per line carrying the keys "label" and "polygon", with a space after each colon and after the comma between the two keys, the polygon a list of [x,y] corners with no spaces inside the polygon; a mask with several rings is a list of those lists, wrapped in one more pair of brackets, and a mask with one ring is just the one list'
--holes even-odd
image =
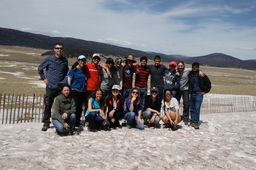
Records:
{"label": "crouching woman in white printed t-shirt, rightmost of front row", "polygon": [[162,118],[163,123],[169,124],[169,130],[176,130],[176,125],[182,120],[182,113],[179,111],[180,106],[176,98],[172,98],[172,91],[166,89],[164,91],[162,107],[165,115]]}

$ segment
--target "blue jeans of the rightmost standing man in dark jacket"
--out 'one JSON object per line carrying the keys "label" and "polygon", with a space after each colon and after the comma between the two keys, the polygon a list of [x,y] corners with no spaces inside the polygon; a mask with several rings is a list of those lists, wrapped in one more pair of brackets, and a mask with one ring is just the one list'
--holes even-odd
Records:
{"label": "blue jeans of the rightmost standing man in dark jacket", "polygon": [[203,102],[203,95],[190,94],[189,105],[190,105],[190,118],[191,122],[198,124],[200,119],[200,108]]}

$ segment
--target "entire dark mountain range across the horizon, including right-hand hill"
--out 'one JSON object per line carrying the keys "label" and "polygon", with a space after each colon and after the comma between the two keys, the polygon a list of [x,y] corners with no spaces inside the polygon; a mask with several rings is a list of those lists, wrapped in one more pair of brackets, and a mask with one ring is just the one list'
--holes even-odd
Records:
{"label": "entire dark mountain range across the horizon, including right-hand hill", "polygon": [[187,64],[198,62],[200,65],[215,66],[215,67],[232,67],[243,69],[256,69],[256,60],[243,61],[234,58],[230,55],[222,53],[213,53],[198,57],[189,57],[183,55],[165,55],[157,52],[143,52],[131,48],[115,46],[106,43],[98,43],[76,39],[72,37],[50,37],[46,35],[33,34],[22,32],[15,29],[0,28],[0,45],[5,46],[24,46],[30,48],[52,49],[55,43],[62,43],[64,49],[86,49],[91,53],[101,53],[103,55],[113,55],[127,57],[133,55],[135,58],[147,56],[149,59],[154,59],[155,55],[160,55],[163,62],[183,60]]}

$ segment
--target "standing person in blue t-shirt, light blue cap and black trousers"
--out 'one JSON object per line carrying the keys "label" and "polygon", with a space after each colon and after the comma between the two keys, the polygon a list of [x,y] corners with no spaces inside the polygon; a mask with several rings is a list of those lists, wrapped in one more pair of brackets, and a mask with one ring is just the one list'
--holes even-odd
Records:
{"label": "standing person in blue t-shirt, light blue cap and black trousers", "polygon": [[86,84],[86,72],[84,65],[86,64],[86,58],[84,55],[80,55],[77,59],[78,65],[76,69],[70,69],[67,82],[71,86],[71,97],[76,102],[76,127],[80,127],[81,115],[83,112],[83,104],[85,97],[85,84]]}

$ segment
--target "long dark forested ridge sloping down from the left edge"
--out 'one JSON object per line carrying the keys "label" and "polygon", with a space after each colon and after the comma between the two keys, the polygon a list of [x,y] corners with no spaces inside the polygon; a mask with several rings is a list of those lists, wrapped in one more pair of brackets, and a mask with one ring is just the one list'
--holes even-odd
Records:
{"label": "long dark forested ridge sloping down from the left edge", "polygon": [[0,28],[0,45],[24,46],[51,50],[55,43],[62,43],[65,48],[87,49],[94,53],[101,53],[104,55],[114,55],[120,57],[133,55],[136,58],[140,58],[142,56],[147,56],[150,59],[154,58],[153,54],[149,54],[147,52],[106,43],[98,43],[70,37],[49,37],[46,35],[22,32],[15,29]]}

